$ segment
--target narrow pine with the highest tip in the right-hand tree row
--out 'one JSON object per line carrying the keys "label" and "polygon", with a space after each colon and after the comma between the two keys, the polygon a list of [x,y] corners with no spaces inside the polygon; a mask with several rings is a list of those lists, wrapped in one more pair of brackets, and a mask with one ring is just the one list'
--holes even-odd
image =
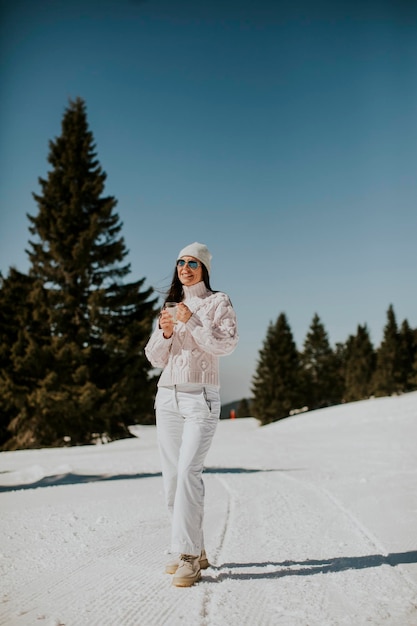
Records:
{"label": "narrow pine with the highest tip in the right-hand tree row", "polygon": [[392,304],[387,311],[384,336],[377,350],[372,386],[377,396],[390,396],[402,391],[400,336]]}

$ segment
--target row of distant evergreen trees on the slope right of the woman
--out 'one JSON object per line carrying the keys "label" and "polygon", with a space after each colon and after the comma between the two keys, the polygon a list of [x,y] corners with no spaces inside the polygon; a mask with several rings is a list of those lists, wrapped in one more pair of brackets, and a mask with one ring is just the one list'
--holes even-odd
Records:
{"label": "row of distant evergreen trees on the slope right of the woman", "polygon": [[[318,409],[371,396],[417,389],[417,329],[407,320],[398,327],[389,306],[380,346],[375,349],[366,325],[332,349],[317,314],[297,350],[284,313],[268,327],[253,377],[251,415],[268,424],[300,410]],[[242,401],[237,414],[247,410]]]}

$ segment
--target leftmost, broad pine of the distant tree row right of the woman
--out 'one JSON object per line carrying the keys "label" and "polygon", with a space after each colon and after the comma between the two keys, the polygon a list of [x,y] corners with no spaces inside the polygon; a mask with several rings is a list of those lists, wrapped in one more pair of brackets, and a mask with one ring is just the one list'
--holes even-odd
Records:
{"label": "leftmost, broad pine of the distant tree row right of the woman", "polygon": [[252,413],[262,424],[287,417],[302,405],[299,356],[284,313],[268,327],[252,391]]}

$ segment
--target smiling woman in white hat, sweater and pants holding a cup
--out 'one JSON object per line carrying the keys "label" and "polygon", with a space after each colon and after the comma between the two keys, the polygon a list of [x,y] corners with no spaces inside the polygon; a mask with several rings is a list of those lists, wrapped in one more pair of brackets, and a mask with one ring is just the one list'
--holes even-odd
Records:
{"label": "smiling woman in white hat, sweater and pants holding a cup", "polygon": [[190,587],[208,567],[204,550],[203,464],[220,417],[219,356],[238,341],[228,296],[210,287],[211,254],[195,242],[181,250],[166,302],[177,302],[176,322],[164,308],[145,348],[163,368],[155,399],[166,501],[172,513],[166,567],[173,585]]}

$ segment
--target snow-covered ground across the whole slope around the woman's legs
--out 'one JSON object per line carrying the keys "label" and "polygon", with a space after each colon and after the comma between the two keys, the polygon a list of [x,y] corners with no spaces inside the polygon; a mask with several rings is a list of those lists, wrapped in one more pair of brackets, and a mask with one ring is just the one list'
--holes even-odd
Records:
{"label": "snow-covered ground across the whole slope around the woman's legs", "polygon": [[155,428],[136,433],[0,454],[0,624],[417,624],[417,393],[220,422],[190,589],[164,574]]}

